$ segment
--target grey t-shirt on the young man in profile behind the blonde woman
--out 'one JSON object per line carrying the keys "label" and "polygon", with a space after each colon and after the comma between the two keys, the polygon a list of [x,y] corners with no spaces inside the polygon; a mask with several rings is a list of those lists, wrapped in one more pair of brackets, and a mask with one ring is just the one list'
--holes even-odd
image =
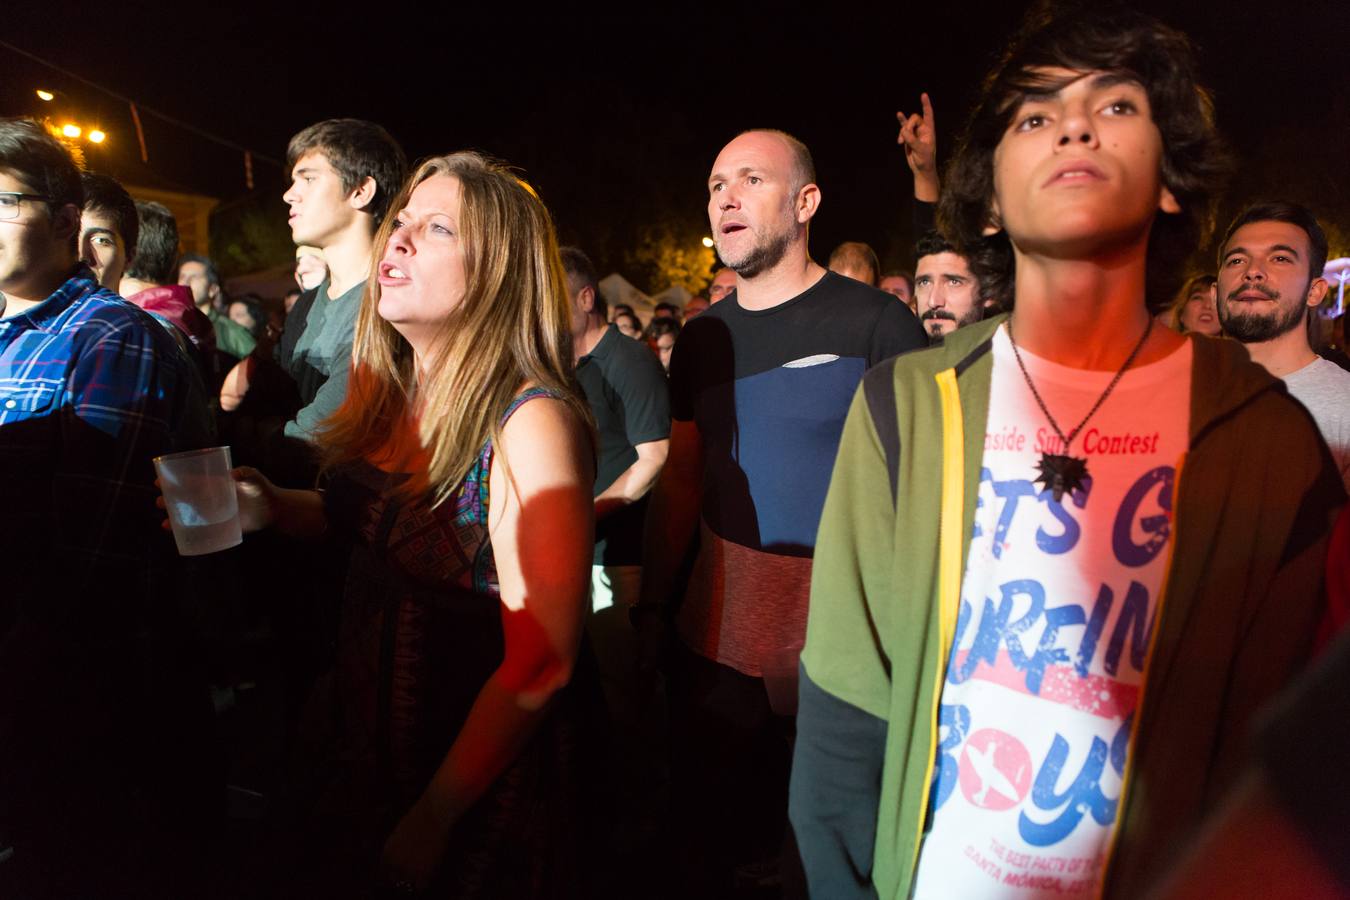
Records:
{"label": "grey t-shirt on the young man in profile behind the blonde woman", "polygon": [[329,300],[328,282],[317,289],[304,331],[293,348],[278,344],[277,362],[296,381],[304,409],[286,422],[286,437],[313,440],[319,422],[328,418],[347,397],[351,341],[360,310],[360,281]]}

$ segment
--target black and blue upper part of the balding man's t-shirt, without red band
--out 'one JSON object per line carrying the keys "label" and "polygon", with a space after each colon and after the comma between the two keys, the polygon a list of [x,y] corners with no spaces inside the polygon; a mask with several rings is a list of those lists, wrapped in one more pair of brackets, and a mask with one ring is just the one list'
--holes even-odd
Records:
{"label": "black and blue upper part of the balding man's t-shirt, without red band", "polygon": [[714,534],[811,556],[863,372],[926,345],[909,306],[834,273],[764,310],[742,309],[733,291],[686,324],[671,358],[671,412],[698,425]]}

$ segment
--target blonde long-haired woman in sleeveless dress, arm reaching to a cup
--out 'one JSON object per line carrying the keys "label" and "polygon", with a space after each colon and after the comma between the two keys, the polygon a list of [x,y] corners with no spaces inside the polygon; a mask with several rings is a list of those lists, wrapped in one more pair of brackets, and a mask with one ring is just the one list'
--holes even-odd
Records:
{"label": "blonde long-haired woman in sleeveless dress, arm reaching to a cup", "polygon": [[328,490],[236,475],[251,525],[355,538],[310,716],[342,723],[315,766],[331,881],[378,854],[402,892],[568,896],[594,472],[554,229],[468,152],[424,162],[392,209],[321,434]]}

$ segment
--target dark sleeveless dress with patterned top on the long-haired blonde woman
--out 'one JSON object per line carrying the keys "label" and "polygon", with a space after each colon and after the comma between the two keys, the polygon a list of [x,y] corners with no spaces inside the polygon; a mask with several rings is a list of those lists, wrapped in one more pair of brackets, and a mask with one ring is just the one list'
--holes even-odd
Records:
{"label": "dark sleeveless dress with patterned top on the long-haired blonde woman", "polygon": [[[526,390],[502,422],[548,395]],[[371,862],[502,660],[505,610],[487,534],[491,459],[489,441],[435,509],[401,499],[392,490],[397,479],[371,466],[336,472],[325,493],[329,521],[359,540],[338,667],[308,715],[327,733],[324,762],[310,773],[319,783],[315,812],[325,830],[346,833],[347,851]],[[574,679],[554,698],[517,760],[455,826],[429,896],[583,896],[579,690]]]}

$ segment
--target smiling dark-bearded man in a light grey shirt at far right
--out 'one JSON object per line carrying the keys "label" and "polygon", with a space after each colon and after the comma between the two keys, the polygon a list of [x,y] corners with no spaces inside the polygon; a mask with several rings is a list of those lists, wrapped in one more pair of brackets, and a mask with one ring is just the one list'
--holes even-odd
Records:
{"label": "smiling dark-bearded man in a light grey shirt at far right", "polygon": [[1223,332],[1312,413],[1350,484],[1350,372],[1308,343],[1308,310],[1327,296],[1326,264],[1327,235],[1310,209],[1256,204],[1228,225],[1211,290]]}

